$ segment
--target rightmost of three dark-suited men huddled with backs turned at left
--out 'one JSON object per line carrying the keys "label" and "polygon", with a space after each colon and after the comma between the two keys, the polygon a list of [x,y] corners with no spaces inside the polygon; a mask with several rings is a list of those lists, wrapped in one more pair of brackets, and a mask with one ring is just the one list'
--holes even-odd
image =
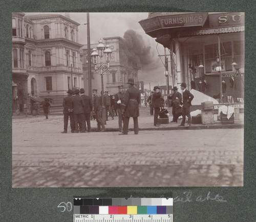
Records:
{"label": "rightmost of three dark-suited men huddled with backs turned at left", "polygon": [[84,107],[83,107],[83,126],[84,129],[83,131],[86,131],[86,124],[87,124],[87,131],[90,132],[91,131],[91,122],[90,122],[90,115],[91,112],[93,110],[93,106],[92,106],[92,100],[89,96],[84,95],[84,89],[80,88],[80,94],[81,94],[81,98],[84,102]]}

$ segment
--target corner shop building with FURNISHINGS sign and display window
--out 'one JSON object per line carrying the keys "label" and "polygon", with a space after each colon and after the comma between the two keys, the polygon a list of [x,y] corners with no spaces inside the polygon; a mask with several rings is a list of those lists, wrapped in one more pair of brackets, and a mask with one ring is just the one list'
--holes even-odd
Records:
{"label": "corner shop building with FURNISHINGS sign and display window", "polygon": [[173,85],[186,82],[211,97],[222,92],[223,102],[243,102],[244,13],[155,12],[139,24],[173,55]]}

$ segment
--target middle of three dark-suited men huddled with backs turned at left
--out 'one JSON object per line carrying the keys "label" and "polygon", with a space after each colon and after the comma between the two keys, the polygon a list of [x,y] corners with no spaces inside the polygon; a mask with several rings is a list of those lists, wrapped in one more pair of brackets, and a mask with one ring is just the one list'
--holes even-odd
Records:
{"label": "middle of three dark-suited men huddled with backs turned at left", "polygon": [[73,97],[72,103],[73,103],[73,112],[74,112],[74,117],[75,117],[75,131],[79,132],[78,129],[78,123],[80,126],[80,132],[85,132],[84,131],[84,126],[83,126],[83,107],[84,107],[84,102],[82,98],[79,96],[79,89],[77,88],[75,90],[75,96]]}

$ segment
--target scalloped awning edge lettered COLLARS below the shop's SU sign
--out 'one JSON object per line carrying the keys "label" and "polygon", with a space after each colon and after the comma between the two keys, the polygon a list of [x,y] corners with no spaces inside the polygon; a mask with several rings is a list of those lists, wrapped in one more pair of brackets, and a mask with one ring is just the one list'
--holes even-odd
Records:
{"label": "scalloped awning edge lettered COLLARS below the shop's SU sign", "polygon": [[217,27],[214,29],[199,29],[195,31],[179,32],[180,37],[196,36],[196,35],[209,35],[231,32],[244,32],[244,26],[232,26],[232,27]]}

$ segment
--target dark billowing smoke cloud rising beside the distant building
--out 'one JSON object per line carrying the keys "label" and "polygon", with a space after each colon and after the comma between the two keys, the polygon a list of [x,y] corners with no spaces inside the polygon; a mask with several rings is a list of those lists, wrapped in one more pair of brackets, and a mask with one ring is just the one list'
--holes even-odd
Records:
{"label": "dark billowing smoke cloud rising beside the distant building", "polygon": [[134,30],[127,30],[119,43],[120,62],[143,68],[153,62],[151,46],[146,46],[141,35]]}

